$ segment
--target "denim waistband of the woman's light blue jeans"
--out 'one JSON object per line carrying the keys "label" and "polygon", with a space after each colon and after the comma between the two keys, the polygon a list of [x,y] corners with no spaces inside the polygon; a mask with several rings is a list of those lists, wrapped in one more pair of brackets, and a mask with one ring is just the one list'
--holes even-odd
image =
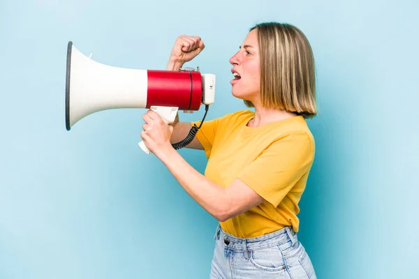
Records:
{"label": "denim waistband of the woman's light blue jeans", "polygon": [[291,243],[294,244],[297,241],[297,234],[293,231],[292,227],[284,227],[284,229],[279,229],[270,234],[243,239],[224,232],[221,225],[218,225],[214,239],[220,238],[223,239],[229,249],[241,252],[277,246],[288,241],[291,241]]}

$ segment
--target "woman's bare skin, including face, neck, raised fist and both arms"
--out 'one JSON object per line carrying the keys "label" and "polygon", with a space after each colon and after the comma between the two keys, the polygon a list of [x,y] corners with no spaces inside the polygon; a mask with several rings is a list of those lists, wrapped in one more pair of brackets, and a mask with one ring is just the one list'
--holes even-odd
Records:
{"label": "woman's bare skin, including face, neck, raised fist and both arms", "polygon": [[[205,45],[197,36],[179,36],[172,48],[166,70],[177,70],[183,63],[198,55]],[[240,74],[240,80],[231,80],[233,96],[250,100],[255,105],[255,116],[249,121],[249,127],[262,126],[272,121],[286,119],[295,114],[263,107],[260,103],[260,56],[256,30],[251,31],[237,51],[230,58],[232,70]],[[265,200],[249,186],[235,179],[227,188],[220,186],[196,169],[193,169],[179,153],[172,148],[171,142],[178,142],[186,137],[190,123],[179,122],[166,124],[159,114],[152,110],[146,112],[140,135],[145,145],[169,169],[175,179],[200,206],[214,218],[223,222],[244,213]],[[195,138],[189,146],[203,149]]]}

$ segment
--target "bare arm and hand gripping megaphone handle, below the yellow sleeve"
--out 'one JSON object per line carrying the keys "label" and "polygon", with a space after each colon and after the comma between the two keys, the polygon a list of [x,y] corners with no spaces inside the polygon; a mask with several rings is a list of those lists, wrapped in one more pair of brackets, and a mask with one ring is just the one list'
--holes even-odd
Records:
{"label": "bare arm and hand gripping megaphone handle, below the yellow sleeve", "polygon": [[149,110],[144,114],[142,140],[156,155],[179,184],[193,199],[203,206],[219,221],[228,220],[256,206],[264,199],[239,179],[235,179],[228,188],[210,181],[179,155],[170,145],[172,126],[168,126],[156,112]]}

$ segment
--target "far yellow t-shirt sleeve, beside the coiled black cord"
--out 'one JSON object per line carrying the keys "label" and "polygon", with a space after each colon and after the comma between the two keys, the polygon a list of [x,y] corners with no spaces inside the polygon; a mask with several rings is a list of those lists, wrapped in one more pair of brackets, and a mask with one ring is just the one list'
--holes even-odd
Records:
{"label": "far yellow t-shirt sleeve, beside the coiled black cord", "polygon": [[[198,130],[198,133],[196,133],[196,138],[199,140],[200,144],[203,145],[207,158],[210,158],[216,131],[219,129],[219,126],[223,125],[223,122],[226,121],[231,115],[232,114],[226,114],[216,119],[204,121],[203,125]],[[199,127],[200,123],[201,121],[191,122],[191,126],[196,124],[196,126]]]}

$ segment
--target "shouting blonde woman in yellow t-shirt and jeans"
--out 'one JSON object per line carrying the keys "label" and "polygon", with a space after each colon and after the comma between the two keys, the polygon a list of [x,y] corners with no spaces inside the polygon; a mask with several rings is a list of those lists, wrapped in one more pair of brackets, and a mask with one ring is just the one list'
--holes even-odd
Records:
{"label": "shouting blonde woman in yellow t-shirt and jeans", "polygon": [[[167,70],[204,49],[179,36]],[[194,123],[166,125],[148,111],[142,140],[193,199],[219,220],[211,278],[316,278],[297,240],[298,202],[314,160],[305,121],[316,115],[314,58],[304,34],[289,24],[253,27],[233,65],[232,93],[243,110],[205,121],[187,147],[209,158],[205,176],[172,148]]]}

